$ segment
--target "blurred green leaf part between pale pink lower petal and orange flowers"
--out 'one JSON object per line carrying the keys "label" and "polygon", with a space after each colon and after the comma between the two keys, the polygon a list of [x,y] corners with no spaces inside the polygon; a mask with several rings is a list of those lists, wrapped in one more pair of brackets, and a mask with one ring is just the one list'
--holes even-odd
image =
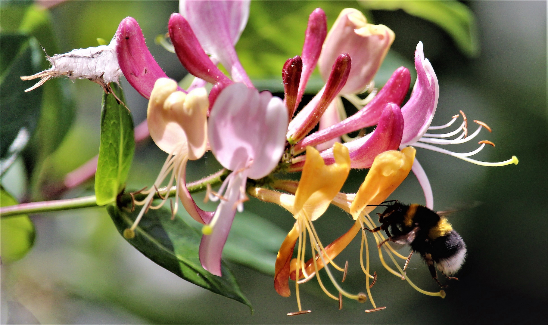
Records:
{"label": "blurred green leaf part between pale pink lower petal and orange flowers", "polygon": [[237,213],[222,256],[233,263],[274,275],[276,256],[286,235],[287,232],[252,212]]}

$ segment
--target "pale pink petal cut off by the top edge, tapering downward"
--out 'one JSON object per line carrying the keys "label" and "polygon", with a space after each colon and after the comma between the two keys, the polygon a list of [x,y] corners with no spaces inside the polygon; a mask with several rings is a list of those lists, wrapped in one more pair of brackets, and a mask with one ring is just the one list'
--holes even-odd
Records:
{"label": "pale pink petal cut off by the top edge, tapering downward", "polygon": [[179,11],[206,53],[216,56],[234,81],[253,87],[234,49],[247,24],[249,1],[181,1]]}

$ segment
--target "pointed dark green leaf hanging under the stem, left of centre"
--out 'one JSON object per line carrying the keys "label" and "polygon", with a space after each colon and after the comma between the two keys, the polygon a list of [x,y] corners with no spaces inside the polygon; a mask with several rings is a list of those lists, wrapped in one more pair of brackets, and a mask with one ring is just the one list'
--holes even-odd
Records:
{"label": "pointed dark green leaf hanging under the stem, left of centre", "polygon": [[[116,206],[108,206],[107,210],[121,235],[139,213],[139,209],[129,213]],[[127,241],[164,269],[197,286],[246,304],[251,309],[250,302],[224,262],[221,266],[222,277],[203,269],[198,258],[201,235],[182,219],[171,220],[171,215],[166,208],[149,209],[136,227],[135,237]]]}

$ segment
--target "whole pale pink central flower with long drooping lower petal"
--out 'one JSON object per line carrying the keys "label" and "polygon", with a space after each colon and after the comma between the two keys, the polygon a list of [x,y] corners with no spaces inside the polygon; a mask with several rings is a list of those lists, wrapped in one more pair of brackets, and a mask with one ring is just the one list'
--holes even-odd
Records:
{"label": "whole pale pink central flower with long drooping lower petal", "polygon": [[222,201],[212,221],[204,226],[199,249],[204,269],[221,276],[222,248],[236,208],[242,210],[247,199],[247,178],[260,179],[270,174],[282,157],[287,109],[270,92],[259,93],[235,83],[219,94],[208,124],[213,154],[223,167],[233,170],[219,190]]}

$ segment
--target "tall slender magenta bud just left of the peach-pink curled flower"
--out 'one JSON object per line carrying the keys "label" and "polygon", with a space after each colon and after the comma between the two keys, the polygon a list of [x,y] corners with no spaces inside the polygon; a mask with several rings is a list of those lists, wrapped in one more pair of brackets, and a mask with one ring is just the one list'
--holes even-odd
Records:
{"label": "tall slender magenta bud just left of the peach-pink curled flower", "polygon": [[321,8],[316,8],[309,16],[308,26],[305,32],[305,43],[302,46],[302,75],[299,84],[299,93],[295,102],[295,110],[305,93],[306,84],[310,75],[316,68],[319,54],[322,52],[323,41],[327,35],[326,13]]}

